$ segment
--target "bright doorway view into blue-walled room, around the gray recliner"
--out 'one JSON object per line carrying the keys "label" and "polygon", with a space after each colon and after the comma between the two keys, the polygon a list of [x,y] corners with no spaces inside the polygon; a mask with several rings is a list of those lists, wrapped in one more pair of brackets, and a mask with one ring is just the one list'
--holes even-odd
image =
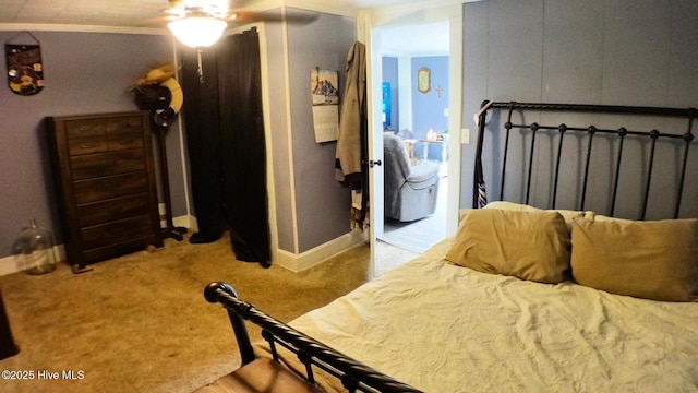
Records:
{"label": "bright doorway view into blue-walled room, around the gray recliner", "polygon": [[[388,217],[376,226],[378,241],[423,252],[446,237],[449,141],[449,23],[441,21],[376,29],[382,71],[382,121],[409,146],[412,166],[438,167],[438,192],[433,214],[413,222]],[[386,98],[387,97],[387,98]],[[377,133],[374,132],[374,143]],[[378,136],[380,138],[380,136]],[[384,182],[383,182],[384,183]],[[383,183],[375,182],[377,193]],[[382,227],[382,228],[381,228]]]}

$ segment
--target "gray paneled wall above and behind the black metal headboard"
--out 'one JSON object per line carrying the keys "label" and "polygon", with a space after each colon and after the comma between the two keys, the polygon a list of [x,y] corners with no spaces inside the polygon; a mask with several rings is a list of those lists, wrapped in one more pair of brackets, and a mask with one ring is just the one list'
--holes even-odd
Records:
{"label": "gray paneled wall above and behind the black metal headboard", "polygon": [[[697,107],[696,21],[698,2],[693,0],[489,0],[466,3],[464,128],[474,129],[472,115],[485,98]],[[545,117],[529,115],[525,120],[528,123]],[[614,127],[615,123],[615,120],[598,117],[588,120],[602,127]],[[650,130],[657,127],[671,133],[686,131],[685,123],[654,119],[645,124],[633,120],[630,126]],[[474,147],[474,143],[464,145],[460,199],[464,207],[471,204]],[[675,162],[678,153],[674,147],[666,147],[658,159]],[[696,155],[693,154],[689,160],[689,172],[694,177],[698,175]],[[609,162],[607,157],[594,157],[592,166],[605,171]],[[657,176],[660,181],[666,180],[663,177]],[[670,177],[674,181],[675,171]],[[690,177],[688,179],[687,183],[695,183]],[[671,181],[667,187],[673,188]],[[691,187],[684,201],[686,215],[698,214],[697,191]],[[637,211],[637,195],[624,198],[622,204],[629,206],[625,214],[633,216]],[[650,203],[662,204],[661,195],[651,196]],[[592,206],[607,207],[605,201],[594,200]]]}

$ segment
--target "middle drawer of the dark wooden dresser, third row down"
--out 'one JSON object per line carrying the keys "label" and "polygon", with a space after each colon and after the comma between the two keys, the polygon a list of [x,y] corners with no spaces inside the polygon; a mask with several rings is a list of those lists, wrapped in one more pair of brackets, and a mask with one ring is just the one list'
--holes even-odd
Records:
{"label": "middle drawer of the dark wooden dresser, third row down", "polygon": [[77,205],[147,191],[148,177],[145,171],[73,182],[73,194]]}

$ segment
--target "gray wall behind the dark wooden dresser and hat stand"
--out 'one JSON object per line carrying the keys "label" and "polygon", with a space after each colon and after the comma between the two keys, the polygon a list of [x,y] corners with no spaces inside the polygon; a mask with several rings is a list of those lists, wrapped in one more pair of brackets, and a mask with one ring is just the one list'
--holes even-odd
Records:
{"label": "gray wall behind the dark wooden dresser and hat stand", "polygon": [[[15,34],[0,32],[0,41]],[[62,242],[44,118],[135,110],[127,94],[129,85],[155,63],[172,58],[169,36],[33,34],[41,43],[44,90],[37,95],[19,96],[9,90],[7,80],[0,88],[0,257],[12,253],[14,239],[31,218],[53,230],[57,242]],[[32,41],[20,35],[12,43]],[[176,131],[167,138],[172,200],[178,206],[174,213],[183,214],[179,138]]]}

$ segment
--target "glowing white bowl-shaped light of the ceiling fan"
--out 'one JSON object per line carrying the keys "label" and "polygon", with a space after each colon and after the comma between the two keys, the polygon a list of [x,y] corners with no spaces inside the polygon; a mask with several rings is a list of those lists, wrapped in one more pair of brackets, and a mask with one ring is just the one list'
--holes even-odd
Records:
{"label": "glowing white bowl-shaped light of the ceiling fan", "polygon": [[188,16],[168,23],[167,27],[188,47],[206,48],[216,44],[228,24],[217,17]]}

